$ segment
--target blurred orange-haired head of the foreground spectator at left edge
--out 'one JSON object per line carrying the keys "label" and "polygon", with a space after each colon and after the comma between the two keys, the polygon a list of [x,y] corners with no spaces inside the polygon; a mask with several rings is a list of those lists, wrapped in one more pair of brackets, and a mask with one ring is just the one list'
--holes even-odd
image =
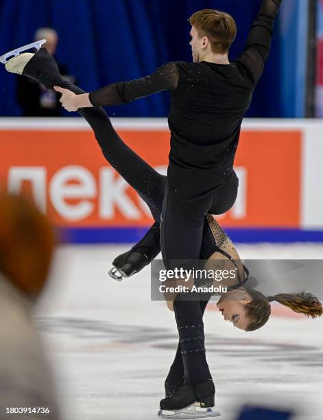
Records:
{"label": "blurred orange-haired head of the foreground spectator at left edge", "polygon": [[23,196],[0,195],[0,272],[22,292],[43,290],[55,237],[49,220]]}

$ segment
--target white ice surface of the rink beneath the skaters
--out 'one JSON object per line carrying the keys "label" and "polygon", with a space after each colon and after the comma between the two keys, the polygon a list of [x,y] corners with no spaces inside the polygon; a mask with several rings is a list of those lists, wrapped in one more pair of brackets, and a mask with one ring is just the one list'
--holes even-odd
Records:
{"label": "white ice surface of the rink beneath the skaters", "polygon": [[[36,312],[68,420],[156,419],[177,330],[165,303],[150,300],[149,268],[119,283],[112,259],[129,246],[61,246]],[[243,259],[322,259],[323,244],[237,244]],[[273,306],[258,331],[224,322],[208,305],[206,355],[222,420],[244,403],[294,408],[323,419],[323,318]]]}

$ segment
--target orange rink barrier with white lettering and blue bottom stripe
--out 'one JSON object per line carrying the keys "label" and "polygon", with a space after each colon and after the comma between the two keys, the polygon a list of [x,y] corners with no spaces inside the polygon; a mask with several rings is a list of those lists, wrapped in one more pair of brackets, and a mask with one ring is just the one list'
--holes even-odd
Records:
{"label": "orange rink barrier with white lettering and blue bottom stripe", "polygon": [[[112,119],[125,143],[165,174],[166,119]],[[239,193],[216,218],[235,242],[323,242],[320,120],[246,119]],[[134,242],[153,222],[82,119],[0,118],[0,182],[30,194],[74,243]]]}

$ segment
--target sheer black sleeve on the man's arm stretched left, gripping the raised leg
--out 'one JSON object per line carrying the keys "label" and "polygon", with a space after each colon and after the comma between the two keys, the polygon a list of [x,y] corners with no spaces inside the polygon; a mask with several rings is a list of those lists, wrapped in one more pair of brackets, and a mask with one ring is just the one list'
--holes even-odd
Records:
{"label": "sheer black sleeve on the man's arm stretched left, gripping the raised leg", "polygon": [[180,76],[175,62],[158,67],[151,75],[129,82],[112,83],[90,93],[93,106],[119,105],[160,91],[174,91]]}

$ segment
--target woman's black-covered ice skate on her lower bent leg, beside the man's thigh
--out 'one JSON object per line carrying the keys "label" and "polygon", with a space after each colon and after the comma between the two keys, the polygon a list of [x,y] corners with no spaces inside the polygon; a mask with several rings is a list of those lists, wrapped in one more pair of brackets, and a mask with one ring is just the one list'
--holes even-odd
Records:
{"label": "woman's black-covered ice skate on her lower bent leg, beside the man's thigh", "polygon": [[150,262],[147,255],[130,249],[127,253],[119,255],[113,261],[113,267],[108,272],[112,279],[122,281],[136,272],[141,271]]}

